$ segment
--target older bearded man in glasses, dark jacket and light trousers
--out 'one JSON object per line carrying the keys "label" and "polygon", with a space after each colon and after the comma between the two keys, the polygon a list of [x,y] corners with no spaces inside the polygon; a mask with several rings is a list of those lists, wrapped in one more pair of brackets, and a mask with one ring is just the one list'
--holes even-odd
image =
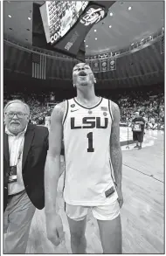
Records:
{"label": "older bearded man in glasses, dark jacket and light trousers", "polygon": [[35,209],[45,206],[48,129],[29,120],[30,108],[23,101],[11,100],[4,107],[4,253],[25,253]]}

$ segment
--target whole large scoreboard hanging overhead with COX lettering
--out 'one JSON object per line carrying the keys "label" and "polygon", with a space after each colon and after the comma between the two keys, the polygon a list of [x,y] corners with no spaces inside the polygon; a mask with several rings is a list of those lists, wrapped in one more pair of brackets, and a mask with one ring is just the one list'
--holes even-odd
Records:
{"label": "whole large scoreboard hanging overhead with COX lettering", "polygon": [[33,3],[32,45],[85,61],[86,34],[116,1],[45,1]]}

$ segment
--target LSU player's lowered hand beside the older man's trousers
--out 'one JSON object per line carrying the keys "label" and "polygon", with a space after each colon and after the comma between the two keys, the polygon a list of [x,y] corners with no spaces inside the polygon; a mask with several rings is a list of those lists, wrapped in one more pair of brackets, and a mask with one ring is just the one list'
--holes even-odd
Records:
{"label": "LSU player's lowered hand beside the older man's trousers", "polygon": [[47,238],[54,246],[59,246],[61,241],[65,238],[62,220],[58,213],[52,214],[52,216],[46,218],[46,233]]}

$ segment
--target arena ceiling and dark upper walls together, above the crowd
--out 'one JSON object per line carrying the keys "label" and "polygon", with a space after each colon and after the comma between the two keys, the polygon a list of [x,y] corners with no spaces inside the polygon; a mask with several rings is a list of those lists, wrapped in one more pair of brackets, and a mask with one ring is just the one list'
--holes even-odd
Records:
{"label": "arena ceiling and dark upper walls together, above the crowd", "polygon": [[[38,8],[43,3],[6,1],[3,4],[4,102],[20,93],[31,95],[34,92],[38,95],[42,92],[48,96],[53,92],[55,102],[75,95],[72,72],[77,60],[32,46],[33,6],[35,4]],[[131,10],[128,10],[129,6]],[[117,1],[107,17],[93,25],[85,38],[86,61],[93,68],[95,63],[101,67],[103,60],[115,59],[114,70],[95,73],[98,95],[117,101],[121,95],[135,97],[138,92],[144,95],[149,91],[152,94],[163,93],[163,12],[162,1]],[[35,30],[42,31],[41,24]],[[31,77],[31,51],[46,56],[44,80]]]}

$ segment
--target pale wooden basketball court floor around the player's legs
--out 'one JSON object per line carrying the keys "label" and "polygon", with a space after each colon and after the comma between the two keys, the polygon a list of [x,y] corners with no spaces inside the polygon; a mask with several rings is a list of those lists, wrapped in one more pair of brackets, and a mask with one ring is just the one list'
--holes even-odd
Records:
{"label": "pale wooden basketball court floor around the player's legs", "polygon": [[[122,147],[122,252],[164,253],[164,133],[146,131],[142,150],[133,149],[134,146]],[[66,241],[52,246],[46,238],[45,210],[37,210],[26,253],[72,253],[62,186],[63,175],[59,179],[57,204]],[[86,241],[87,253],[102,253],[98,225],[91,212],[87,216]]]}

